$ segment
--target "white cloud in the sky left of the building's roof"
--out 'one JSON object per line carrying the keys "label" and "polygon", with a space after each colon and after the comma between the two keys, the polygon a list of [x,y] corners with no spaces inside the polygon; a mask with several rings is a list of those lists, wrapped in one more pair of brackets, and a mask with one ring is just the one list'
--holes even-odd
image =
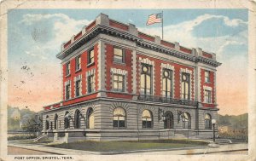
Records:
{"label": "white cloud in the sky left of the building's roof", "polygon": [[[37,56],[41,60],[46,60],[48,55],[53,56],[60,52],[61,43],[67,42],[73,34],[78,33],[83,26],[90,23],[89,20],[74,20],[67,14],[24,14],[20,23],[26,26],[34,26],[39,22],[49,20],[54,20],[53,24],[49,23],[52,26],[47,26],[47,30],[52,30],[48,32],[53,33],[53,37],[50,37],[46,43],[37,42],[34,37],[29,37],[33,40],[31,48],[26,51],[26,55]],[[40,30],[38,29],[38,31]]]}

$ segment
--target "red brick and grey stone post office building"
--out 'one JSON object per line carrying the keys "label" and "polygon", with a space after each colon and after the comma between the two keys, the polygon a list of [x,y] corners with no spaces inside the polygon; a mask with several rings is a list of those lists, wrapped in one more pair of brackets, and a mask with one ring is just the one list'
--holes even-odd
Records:
{"label": "red brick and grey stone post office building", "polygon": [[44,106],[49,138],[212,137],[216,55],[100,14],[61,46],[62,101]]}

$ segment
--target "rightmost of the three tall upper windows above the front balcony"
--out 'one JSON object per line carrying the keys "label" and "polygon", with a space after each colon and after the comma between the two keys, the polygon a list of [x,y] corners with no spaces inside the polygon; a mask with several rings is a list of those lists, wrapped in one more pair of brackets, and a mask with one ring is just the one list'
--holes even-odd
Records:
{"label": "rightmost of the three tall upper windows above the front balcony", "polygon": [[190,74],[189,73],[182,73],[182,83],[181,83],[181,98],[184,100],[190,99]]}

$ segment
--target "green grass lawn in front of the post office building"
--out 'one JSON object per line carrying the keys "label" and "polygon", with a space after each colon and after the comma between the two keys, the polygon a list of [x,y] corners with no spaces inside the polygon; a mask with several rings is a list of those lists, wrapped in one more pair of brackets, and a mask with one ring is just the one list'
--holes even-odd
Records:
{"label": "green grass lawn in front of the post office building", "polygon": [[157,141],[77,141],[48,145],[93,152],[123,152],[146,149],[171,149],[178,147],[207,147],[205,141],[192,140],[157,140]]}

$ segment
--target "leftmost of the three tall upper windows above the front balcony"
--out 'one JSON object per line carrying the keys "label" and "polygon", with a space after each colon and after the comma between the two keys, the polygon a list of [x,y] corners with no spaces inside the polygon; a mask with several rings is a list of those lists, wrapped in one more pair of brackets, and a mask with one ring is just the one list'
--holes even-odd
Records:
{"label": "leftmost of the three tall upper windows above the front balcony", "polygon": [[152,66],[147,64],[142,65],[141,94],[152,95]]}

